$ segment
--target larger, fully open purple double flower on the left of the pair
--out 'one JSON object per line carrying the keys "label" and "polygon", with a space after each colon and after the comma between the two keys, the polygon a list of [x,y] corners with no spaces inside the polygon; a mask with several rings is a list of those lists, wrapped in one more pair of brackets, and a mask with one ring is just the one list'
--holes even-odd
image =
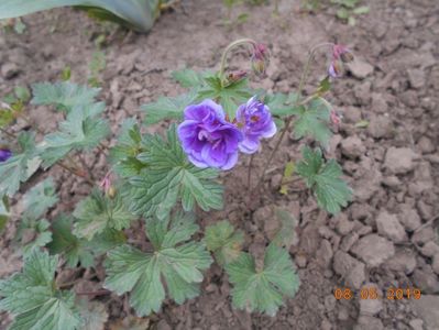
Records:
{"label": "larger, fully open purple double flower on the left of the pair", "polygon": [[230,169],[238,162],[242,133],[226,120],[220,105],[204,100],[185,109],[178,138],[189,161],[197,167]]}

